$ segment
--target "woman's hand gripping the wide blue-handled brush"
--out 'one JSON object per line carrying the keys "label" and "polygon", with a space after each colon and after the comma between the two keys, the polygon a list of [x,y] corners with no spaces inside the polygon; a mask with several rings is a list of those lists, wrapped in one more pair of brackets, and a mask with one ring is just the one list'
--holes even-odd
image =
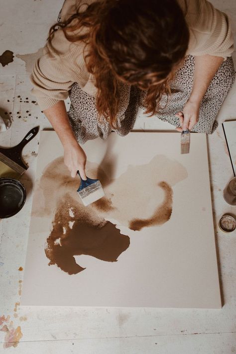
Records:
{"label": "woman's hand gripping the wide blue-handled brush", "polygon": [[64,163],[71,172],[71,177],[74,178],[79,171],[81,178],[86,180],[86,154],[77,142],[64,145]]}

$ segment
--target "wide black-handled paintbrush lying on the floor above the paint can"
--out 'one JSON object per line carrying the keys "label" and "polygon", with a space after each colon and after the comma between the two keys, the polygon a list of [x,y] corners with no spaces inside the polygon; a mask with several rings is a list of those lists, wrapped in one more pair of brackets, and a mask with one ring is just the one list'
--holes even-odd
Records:
{"label": "wide black-handled paintbrush lying on the floor above the paint can", "polygon": [[28,167],[21,158],[21,152],[38,130],[39,126],[31,129],[16,146],[0,147],[0,177],[18,178],[27,170]]}

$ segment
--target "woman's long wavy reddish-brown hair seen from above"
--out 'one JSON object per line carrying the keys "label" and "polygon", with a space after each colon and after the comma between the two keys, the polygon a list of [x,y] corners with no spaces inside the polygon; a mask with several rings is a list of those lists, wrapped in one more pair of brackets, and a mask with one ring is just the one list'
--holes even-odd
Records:
{"label": "woman's long wavy reddish-brown hair seen from above", "polygon": [[147,90],[145,113],[153,115],[188,47],[189,30],[177,0],[97,0],[82,11],[84,2],[50,28],[48,41],[59,26],[70,42],[85,43],[97,111],[113,128],[122,82]]}

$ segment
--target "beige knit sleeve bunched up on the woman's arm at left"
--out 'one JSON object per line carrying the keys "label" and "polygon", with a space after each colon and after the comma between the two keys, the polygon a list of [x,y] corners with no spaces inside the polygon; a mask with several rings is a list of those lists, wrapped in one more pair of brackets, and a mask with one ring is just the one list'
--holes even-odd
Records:
{"label": "beige knit sleeve bunched up on the woman's arm at left", "polygon": [[45,110],[66,100],[74,82],[83,88],[88,78],[83,48],[69,42],[59,29],[52,43],[46,44],[43,56],[33,67],[31,93],[36,97],[41,110]]}

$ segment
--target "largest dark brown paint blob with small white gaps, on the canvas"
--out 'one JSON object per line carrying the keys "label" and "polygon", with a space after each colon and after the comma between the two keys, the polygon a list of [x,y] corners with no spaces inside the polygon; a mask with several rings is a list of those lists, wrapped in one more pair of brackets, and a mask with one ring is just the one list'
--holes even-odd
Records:
{"label": "largest dark brown paint blob with small white gaps, on the canvas", "polygon": [[76,263],[75,255],[86,254],[116,262],[129,246],[129,237],[121,235],[116,226],[103,218],[93,219],[86,207],[76,204],[69,196],[61,200],[47,238],[45,253],[49,265],[56,264],[68,274],[84,270]]}

